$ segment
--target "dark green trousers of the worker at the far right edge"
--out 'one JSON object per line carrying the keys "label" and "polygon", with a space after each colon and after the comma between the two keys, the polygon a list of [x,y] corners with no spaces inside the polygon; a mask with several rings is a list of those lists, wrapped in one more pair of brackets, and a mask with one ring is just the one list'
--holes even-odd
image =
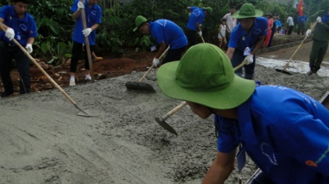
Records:
{"label": "dark green trousers of the worker at the far right edge", "polygon": [[309,54],[309,68],[312,71],[320,69],[321,63],[328,49],[328,41],[313,40],[311,54]]}

